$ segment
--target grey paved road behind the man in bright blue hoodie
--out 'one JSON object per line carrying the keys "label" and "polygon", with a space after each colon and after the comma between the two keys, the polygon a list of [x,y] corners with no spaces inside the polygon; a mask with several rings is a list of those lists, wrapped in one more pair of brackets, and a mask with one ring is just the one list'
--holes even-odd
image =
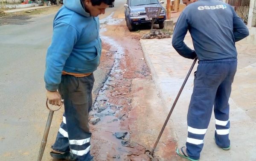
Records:
{"label": "grey paved road behind the man in bright blue hoodie", "polygon": [[[108,8],[103,17],[122,8],[123,4],[124,0],[117,0],[115,7]],[[43,75],[54,15],[0,26],[0,158],[3,161],[34,161],[37,158],[48,116]],[[106,74],[103,71],[95,73],[95,89]],[[55,113],[53,118],[48,151],[61,114]]]}

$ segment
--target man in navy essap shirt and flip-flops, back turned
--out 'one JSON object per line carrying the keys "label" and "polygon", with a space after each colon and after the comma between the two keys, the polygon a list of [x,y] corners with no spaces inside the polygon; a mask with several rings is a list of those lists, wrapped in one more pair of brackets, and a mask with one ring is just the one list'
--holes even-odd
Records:
{"label": "man in navy essap shirt and flip-flops, back turned", "polygon": [[[183,0],[189,5],[177,20],[172,45],[181,56],[189,59],[198,57],[199,60],[187,114],[186,147],[177,148],[181,157],[197,161],[213,106],[215,143],[223,150],[230,149],[228,100],[237,68],[235,42],[247,37],[249,31],[227,3],[217,0],[193,1]],[[187,31],[191,34],[195,51],[183,42]]]}

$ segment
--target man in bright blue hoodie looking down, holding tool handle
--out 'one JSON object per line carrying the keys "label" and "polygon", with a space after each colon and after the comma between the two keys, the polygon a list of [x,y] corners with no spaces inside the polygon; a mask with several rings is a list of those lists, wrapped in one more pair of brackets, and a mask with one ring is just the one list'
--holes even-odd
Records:
{"label": "man in bright blue hoodie looking down, holding tool handle", "polygon": [[55,159],[91,161],[89,111],[93,71],[102,51],[99,14],[114,0],[64,0],[53,22],[52,43],[44,74],[49,104],[65,112],[50,155]]}

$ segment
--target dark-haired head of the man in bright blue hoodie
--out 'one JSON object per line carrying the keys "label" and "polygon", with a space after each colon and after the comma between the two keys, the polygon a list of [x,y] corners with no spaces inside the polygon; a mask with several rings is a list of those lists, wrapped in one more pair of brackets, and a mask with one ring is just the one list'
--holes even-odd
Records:
{"label": "dark-haired head of the man in bright blue hoodie", "polygon": [[84,0],[84,7],[91,16],[105,14],[105,9],[112,5],[114,0]]}

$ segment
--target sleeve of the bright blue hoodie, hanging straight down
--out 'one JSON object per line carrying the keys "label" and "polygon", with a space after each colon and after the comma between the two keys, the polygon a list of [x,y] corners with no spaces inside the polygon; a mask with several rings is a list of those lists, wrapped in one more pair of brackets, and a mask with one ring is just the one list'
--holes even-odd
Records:
{"label": "sleeve of the bright blue hoodie, hanging straight down", "polygon": [[55,22],[52,43],[47,50],[46,69],[44,73],[45,88],[56,91],[61,83],[61,72],[73,46],[79,39],[79,34],[73,26]]}

